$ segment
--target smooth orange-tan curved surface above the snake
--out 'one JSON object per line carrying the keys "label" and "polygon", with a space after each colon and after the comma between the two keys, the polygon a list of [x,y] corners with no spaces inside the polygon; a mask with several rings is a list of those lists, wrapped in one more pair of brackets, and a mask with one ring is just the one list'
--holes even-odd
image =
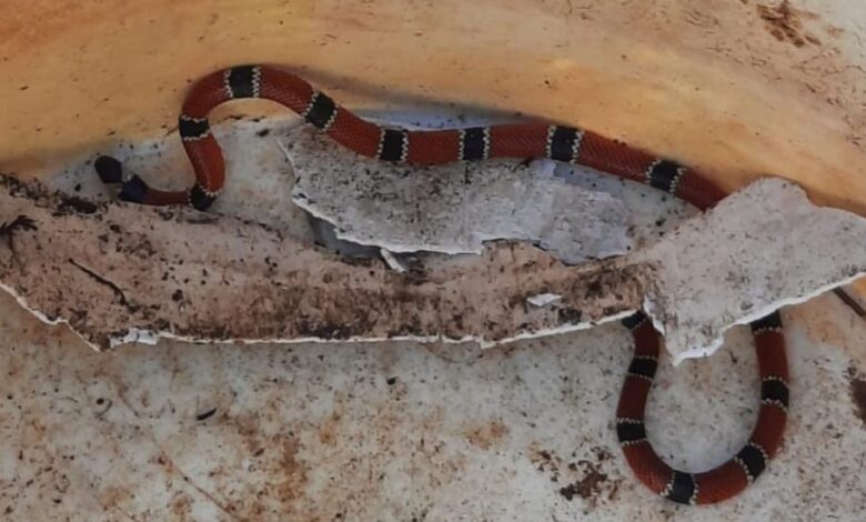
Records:
{"label": "smooth orange-tan curved surface above the snake", "polygon": [[2,0],[16,14],[0,21],[0,167],[168,132],[191,80],[255,61],[354,108],[522,111],[703,167],[728,189],[773,173],[866,213],[865,7],[610,3]]}

